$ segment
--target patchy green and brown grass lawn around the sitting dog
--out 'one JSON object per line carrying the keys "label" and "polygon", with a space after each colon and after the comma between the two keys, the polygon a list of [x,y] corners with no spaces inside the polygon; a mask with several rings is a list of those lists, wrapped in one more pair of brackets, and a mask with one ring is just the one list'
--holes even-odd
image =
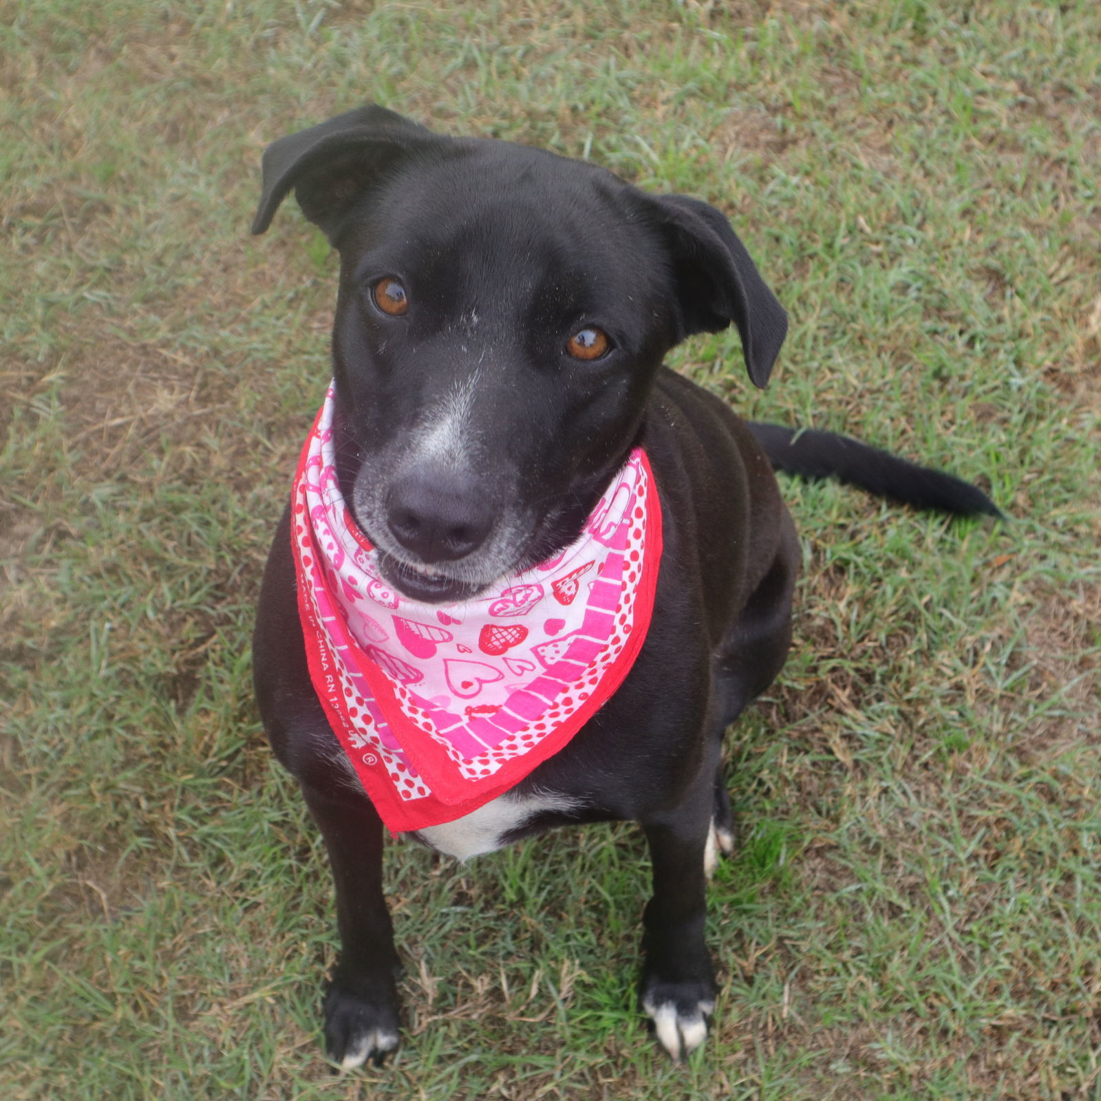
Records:
{"label": "patchy green and brown grass lawn around the sitting dog", "polygon": [[[0,1094],[1101,1098],[1101,14],[1087,0],[9,2]],[[628,826],[390,851],[408,1036],[333,1078],[329,886],[259,729],[260,569],[335,262],[263,145],[366,99],[727,210],[792,314],[676,366],[988,484],[785,484],[805,573],[729,738],[713,1035],[634,1012]]]}

